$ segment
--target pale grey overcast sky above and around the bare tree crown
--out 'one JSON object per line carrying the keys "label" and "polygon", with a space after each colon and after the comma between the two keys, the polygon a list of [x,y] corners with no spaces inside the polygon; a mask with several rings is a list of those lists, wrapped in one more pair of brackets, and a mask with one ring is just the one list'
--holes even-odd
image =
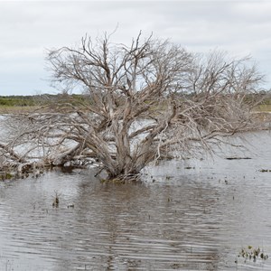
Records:
{"label": "pale grey overcast sky above and around the bare tree crown", "polygon": [[140,30],[189,51],[250,54],[271,88],[271,1],[0,1],[0,96],[56,93],[46,49],[89,33],[130,42]]}

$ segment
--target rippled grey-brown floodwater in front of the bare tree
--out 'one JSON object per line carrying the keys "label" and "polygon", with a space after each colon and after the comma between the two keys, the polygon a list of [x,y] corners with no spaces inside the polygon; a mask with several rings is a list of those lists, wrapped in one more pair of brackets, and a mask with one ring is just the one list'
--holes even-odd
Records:
{"label": "rippled grey-brown floodwater in front of the bare tree", "polygon": [[[247,139],[150,166],[140,183],[95,169],[0,182],[0,270],[271,270],[271,134]],[[248,246],[269,258],[238,257]]]}

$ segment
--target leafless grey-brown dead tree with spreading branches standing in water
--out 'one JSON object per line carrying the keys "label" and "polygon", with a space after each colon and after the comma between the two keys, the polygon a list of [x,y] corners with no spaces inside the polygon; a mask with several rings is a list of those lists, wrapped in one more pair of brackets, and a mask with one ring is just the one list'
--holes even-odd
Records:
{"label": "leafless grey-brown dead tree with spreading branches standing in water", "polygon": [[141,33],[129,46],[86,36],[79,48],[49,51],[48,61],[65,95],[17,117],[9,145],[38,147],[51,164],[96,157],[109,178],[135,175],[168,154],[211,151],[223,136],[251,129],[263,79],[248,59],[193,54]]}

